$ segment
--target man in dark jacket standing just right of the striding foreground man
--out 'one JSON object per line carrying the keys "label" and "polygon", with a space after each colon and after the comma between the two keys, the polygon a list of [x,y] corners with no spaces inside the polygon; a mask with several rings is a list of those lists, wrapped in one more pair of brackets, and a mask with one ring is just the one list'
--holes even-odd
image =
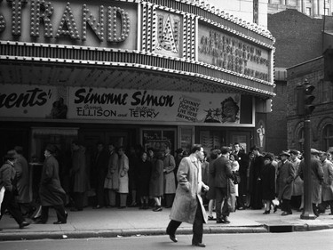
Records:
{"label": "man in dark jacket standing just right of the striding foreground man", "polygon": [[221,154],[222,156],[218,157],[213,165],[211,165],[210,174],[215,180],[217,223],[230,223],[227,218],[230,214],[227,204],[228,178],[231,178],[233,174],[229,160],[230,149],[222,147]]}

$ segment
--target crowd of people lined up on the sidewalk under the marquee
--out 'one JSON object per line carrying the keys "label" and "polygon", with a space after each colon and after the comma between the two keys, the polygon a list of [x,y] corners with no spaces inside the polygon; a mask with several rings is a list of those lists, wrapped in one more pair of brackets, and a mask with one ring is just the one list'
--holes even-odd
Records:
{"label": "crowd of people lined up on the sidewalk under the marquee", "polygon": [[[72,141],[64,161],[57,147],[47,145],[37,206],[33,206],[28,161],[22,152],[20,146],[10,150],[0,168],[0,218],[7,211],[20,228],[27,227],[25,218],[32,216],[36,223],[46,223],[50,207],[57,213],[55,224],[67,222],[66,206],[71,212],[83,211],[85,206],[151,207],[154,212],[170,208],[183,184],[179,165],[195,153],[177,149],[173,156],[168,147],[145,150],[139,145],[126,151],[98,142],[92,154],[81,141]],[[208,220],[229,223],[230,213],[243,209],[264,209],[263,214],[270,214],[280,208],[281,215],[303,209],[305,166],[299,151],[283,150],[274,156],[253,146],[245,153],[235,142],[232,147],[210,149],[209,154],[198,152],[193,157],[199,159],[200,179],[208,187],[201,193]],[[316,149],[311,149],[311,156],[313,214],[319,216],[328,206],[333,214],[332,156]]]}

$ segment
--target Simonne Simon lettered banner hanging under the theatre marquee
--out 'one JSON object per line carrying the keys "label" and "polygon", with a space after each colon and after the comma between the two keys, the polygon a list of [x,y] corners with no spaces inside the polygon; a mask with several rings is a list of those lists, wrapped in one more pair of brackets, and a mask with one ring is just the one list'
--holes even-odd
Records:
{"label": "Simonne Simon lettered banner hanging under the theatre marquee", "polygon": [[68,118],[239,124],[241,96],[69,87]]}

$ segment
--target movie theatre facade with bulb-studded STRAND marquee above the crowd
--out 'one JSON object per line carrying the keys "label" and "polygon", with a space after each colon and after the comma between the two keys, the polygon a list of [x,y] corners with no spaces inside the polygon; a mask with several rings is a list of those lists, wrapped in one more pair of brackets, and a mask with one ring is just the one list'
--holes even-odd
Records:
{"label": "movie theatre facade with bulb-studded STRAND marquee above the crowd", "polygon": [[0,2],[1,153],[265,149],[274,37],[199,1]]}

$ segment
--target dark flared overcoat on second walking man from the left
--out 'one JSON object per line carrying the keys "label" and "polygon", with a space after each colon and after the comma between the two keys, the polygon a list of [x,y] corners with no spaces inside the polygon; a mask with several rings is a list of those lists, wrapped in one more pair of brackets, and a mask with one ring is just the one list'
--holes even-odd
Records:
{"label": "dark flared overcoat on second walking man from the left", "polygon": [[66,201],[65,190],[59,181],[59,164],[55,157],[46,157],[42,169],[39,197],[42,206],[64,205]]}

